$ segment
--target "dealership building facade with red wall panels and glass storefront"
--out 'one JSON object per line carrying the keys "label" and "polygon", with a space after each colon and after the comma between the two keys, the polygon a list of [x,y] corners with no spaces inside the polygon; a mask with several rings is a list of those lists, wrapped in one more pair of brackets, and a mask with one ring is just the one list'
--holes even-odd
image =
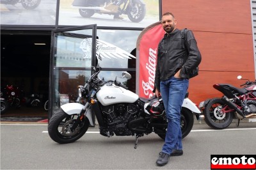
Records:
{"label": "dealership building facade with red wall panels and glass storefront", "polygon": [[[193,31],[202,53],[199,75],[189,84],[193,102],[220,97],[213,84],[243,84],[237,75],[255,79],[253,0],[143,0],[134,1],[137,4],[130,13],[125,6],[130,1],[34,2],[1,4],[1,87],[15,84],[22,86],[26,96],[36,92],[44,100],[49,98],[49,115],[61,104],[76,99],[76,86],[84,84],[92,73],[91,66],[97,63],[105,80],[115,79],[122,71],[131,73],[127,84],[136,92],[141,86],[135,84],[136,59],[113,56],[114,49],[136,57],[141,31],[161,20],[164,12],[175,15],[179,29]],[[92,13],[94,10],[98,13]],[[97,50],[106,54],[102,60],[97,59]]]}

